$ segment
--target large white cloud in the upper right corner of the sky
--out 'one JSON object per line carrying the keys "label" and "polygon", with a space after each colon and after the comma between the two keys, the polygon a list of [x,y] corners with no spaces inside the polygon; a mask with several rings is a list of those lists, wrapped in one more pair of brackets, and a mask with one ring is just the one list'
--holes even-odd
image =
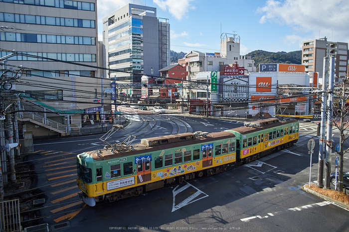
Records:
{"label": "large white cloud in the upper right corner of the sky", "polygon": [[296,32],[313,33],[313,38],[327,36],[330,41],[349,42],[348,0],[268,0],[257,12],[267,21],[291,26]]}

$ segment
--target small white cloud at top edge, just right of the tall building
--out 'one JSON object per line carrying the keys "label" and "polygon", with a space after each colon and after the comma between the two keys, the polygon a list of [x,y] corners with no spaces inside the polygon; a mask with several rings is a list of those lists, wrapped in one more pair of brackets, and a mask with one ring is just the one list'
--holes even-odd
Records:
{"label": "small white cloud at top edge, just right of the tall building", "polygon": [[162,10],[169,11],[176,19],[182,19],[189,9],[195,9],[190,5],[193,0],[153,0]]}

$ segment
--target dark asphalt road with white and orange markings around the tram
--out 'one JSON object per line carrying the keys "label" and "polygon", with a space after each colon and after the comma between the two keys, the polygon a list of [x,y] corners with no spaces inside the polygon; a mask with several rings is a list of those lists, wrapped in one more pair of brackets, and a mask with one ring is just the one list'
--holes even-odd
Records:
{"label": "dark asphalt road with white and orange markings around the tram", "polygon": [[[127,128],[129,131],[140,127],[138,116],[132,117],[134,123]],[[220,131],[241,126],[243,122],[243,119],[236,122],[176,117],[192,131]],[[150,122],[150,127],[155,127],[147,137],[174,130],[174,124],[166,118],[159,119],[156,125],[152,123],[155,122]],[[35,160],[32,162],[36,170],[42,170],[35,185],[45,185],[40,189],[45,192],[47,207],[37,216],[46,216],[40,223],[48,223],[52,231],[349,231],[348,210],[301,189],[309,182],[310,138],[316,141],[311,177],[312,181],[317,179],[316,124],[301,122],[296,145],[258,161],[143,196],[88,207],[77,197],[75,157],[82,151],[103,147],[99,137],[36,142],[37,154],[29,158]],[[119,137],[116,135],[112,140]],[[334,142],[338,143],[336,131]]]}

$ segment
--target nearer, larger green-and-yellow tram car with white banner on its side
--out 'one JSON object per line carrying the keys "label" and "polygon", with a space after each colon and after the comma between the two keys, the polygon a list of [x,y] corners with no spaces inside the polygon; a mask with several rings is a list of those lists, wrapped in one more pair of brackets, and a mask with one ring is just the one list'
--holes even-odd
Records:
{"label": "nearer, larger green-and-yellow tram car with white banner on its side", "polygon": [[77,184],[89,206],[113,202],[175,180],[181,183],[224,171],[234,165],[235,150],[235,135],[228,131],[142,139],[140,144],[78,155]]}

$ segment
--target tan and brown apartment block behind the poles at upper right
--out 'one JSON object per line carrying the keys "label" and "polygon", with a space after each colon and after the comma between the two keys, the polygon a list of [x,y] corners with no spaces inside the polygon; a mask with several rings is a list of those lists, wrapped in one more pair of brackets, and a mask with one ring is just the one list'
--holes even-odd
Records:
{"label": "tan and brown apartment block behind the poles at upper right", "polygon": [[[319,73],[319,82],[322,83],[324,70],[324,57],[335,56],[335,82],[339,82],[340,76],[348,73],[348,43],[330,42],[327,38],[303,41],[302,64],[306,73],[313,79],[313,73]],[[330,59],[329,59],[330,60]]]}

